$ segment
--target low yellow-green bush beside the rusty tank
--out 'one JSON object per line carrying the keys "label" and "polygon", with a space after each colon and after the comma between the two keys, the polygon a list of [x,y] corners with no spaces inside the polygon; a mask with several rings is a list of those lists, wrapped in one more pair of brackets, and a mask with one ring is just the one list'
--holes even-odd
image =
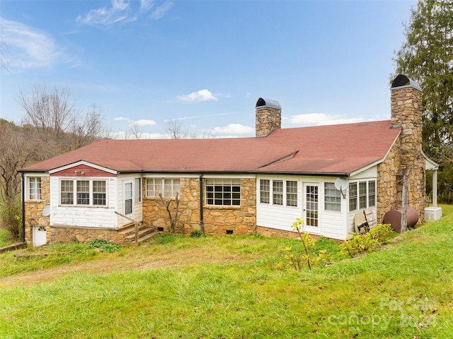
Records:
{"label": "low yellow-green bush beside the rusty tank", "polygon": [[368,233],[354,234],[352,238],[340,244],[340,253],[350,258],[357,254],[376,251],[391,237],[389,224],[376,225]]}

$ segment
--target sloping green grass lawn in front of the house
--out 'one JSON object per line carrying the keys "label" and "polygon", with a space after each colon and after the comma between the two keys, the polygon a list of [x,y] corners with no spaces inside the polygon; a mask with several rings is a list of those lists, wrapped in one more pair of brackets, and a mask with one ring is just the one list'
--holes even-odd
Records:
{"label": "sloping green grass lawn in front of the house", "polygon": [[[453,338],[453,206],[348,259],[281,268],[292,239],[163,234],[115,253],[0,254],[0,338]],[[14,254],[20,254],[18,258]]]}

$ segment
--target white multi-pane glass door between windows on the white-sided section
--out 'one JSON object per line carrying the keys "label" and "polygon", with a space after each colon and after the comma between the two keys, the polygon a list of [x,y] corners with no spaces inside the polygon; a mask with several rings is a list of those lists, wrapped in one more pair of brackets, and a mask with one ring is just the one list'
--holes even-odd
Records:
{"label": "white multi-pane glass door between windows on the white-sided section", "polygon": [[319,184],[304,184],[304,231],[312,234],[321,234],[319,225]]}

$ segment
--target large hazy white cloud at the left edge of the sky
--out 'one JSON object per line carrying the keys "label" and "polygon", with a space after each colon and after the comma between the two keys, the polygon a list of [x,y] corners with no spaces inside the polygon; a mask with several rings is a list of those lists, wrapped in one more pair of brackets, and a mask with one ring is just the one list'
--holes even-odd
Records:
{"label": "large hazy white cloud at the left edge of the sky", "polygon": [[2,44],[1,52],[12,71],[52,67],[59,61],[70,60],[56,42],[35,28],[17,21],[0,18]]}

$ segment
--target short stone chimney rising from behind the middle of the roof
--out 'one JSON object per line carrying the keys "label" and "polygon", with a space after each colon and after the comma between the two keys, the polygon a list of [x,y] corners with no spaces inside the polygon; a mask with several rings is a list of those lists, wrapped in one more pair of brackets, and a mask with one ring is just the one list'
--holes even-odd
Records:
{"label": "short stone chimney rising from behind the middle of the roof", "polygon": [[260,97],[256,102],[256,136],[267,136],[274,129],[282,126],[282,107],[274,100]]}

